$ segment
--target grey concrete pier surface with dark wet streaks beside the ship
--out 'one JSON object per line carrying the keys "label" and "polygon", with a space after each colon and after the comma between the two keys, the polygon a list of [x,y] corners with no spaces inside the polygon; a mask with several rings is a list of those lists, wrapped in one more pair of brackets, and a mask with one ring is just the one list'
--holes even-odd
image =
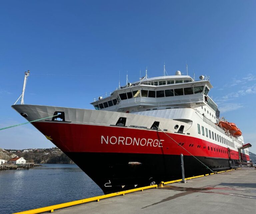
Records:
{"label": "grey concrete pier surface with dark wet streaks beside the ship", "polygon": [[102,199],[55,213],[256,213],[256,170],[238,169]]}

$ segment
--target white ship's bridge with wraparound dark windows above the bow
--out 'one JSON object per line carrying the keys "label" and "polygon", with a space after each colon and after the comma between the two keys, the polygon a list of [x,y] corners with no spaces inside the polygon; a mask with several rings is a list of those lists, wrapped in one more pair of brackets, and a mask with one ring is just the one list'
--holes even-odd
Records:
{"label": "white ship's bridge with wraparound dark windows above the bow", "polygon": [[[177,73],[177,72],[176,72]],[[207,104],[209,80],[194,81],[190,76],[174,75],[141,78],[91,103],[96,110],[136,112],[165,108],[195,108]]]}

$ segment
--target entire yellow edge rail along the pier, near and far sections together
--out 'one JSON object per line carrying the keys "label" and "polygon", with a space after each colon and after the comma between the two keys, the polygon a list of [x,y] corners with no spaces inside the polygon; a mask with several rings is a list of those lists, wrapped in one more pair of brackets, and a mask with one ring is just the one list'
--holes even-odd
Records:
{"label": "entire yellow edge rail along the pier, near and far sections together", "polygon": [[[219,171],[219,172],[216,172],[216,173],[228,172],[228,171],[232,171],[232,170],[235,170],[235,169]],[[205,174],[205,175],[197,175],[197,176],[193,176],[193,177],[187,177],[187,178],[185,178],[185,180],[190,180],[190,179],[204,177],[204,176],[213,175],[213,174],[214,173]],[[182,179],[171,180],[171,181],[166,181],[166,182],[162,181],[160,186],[162,184],[177,183],[177,182],[180,182],[180,181],[182,181]],[[115,197],[115,196],[118,196],[118,195],[125,195],[127,193],[143,191],[145,189],[152,189],[152,188],[157,188],[157,187],[158,187],[158,185],[144,186],[144,187],[129,189],[129,190],[121,191],[121,192],[115,192],[115,193],[110,193],[110,194],[106,194],[106,195],[100,195],[100,196],[96,196],[96,197],[85,198],[85,199],[81,199],[81,200],[77,200],[77,201],[71,201],[71,202],[62,203],[62,204],[56,204],[56,205],[52,205],[52,206],[48,206],[48,207],[42,207],[42,208],[38,208],[38,209],[17,212],[17,213],[13,213],[13,214],[35,214],[35,213],[43,213],[43,212],[47,212],[47,211],[54,212],[54,210],[56,210],[56,209],[70,207],[70,206],[74,206],[74,205],[78,205],[78,204],[84,204],[84,203],[92,202],[92,201],[100,201],[101,199],[104,199],[104,198],[111,198],[111,197]]]}

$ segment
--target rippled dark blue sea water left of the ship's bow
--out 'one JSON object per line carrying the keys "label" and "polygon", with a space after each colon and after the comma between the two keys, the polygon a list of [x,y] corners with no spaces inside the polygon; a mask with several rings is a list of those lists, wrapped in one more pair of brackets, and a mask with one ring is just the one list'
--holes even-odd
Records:
{"label": "rippled dark blue sea water left of the ship's bow", "polygon": [[0,213],[13,213],[104,194],[75,164],[0,171]]}

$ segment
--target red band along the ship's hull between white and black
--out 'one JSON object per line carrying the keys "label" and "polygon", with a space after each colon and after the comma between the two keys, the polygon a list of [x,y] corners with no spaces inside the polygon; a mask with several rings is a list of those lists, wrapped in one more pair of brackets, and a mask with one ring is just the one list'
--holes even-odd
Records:
{"label": "red band along the ship's hull between white and black", "polygon": [[[161,131],[116,126],[35,122],[33,125],[63,152],[140,153],[190,155]],[[228,149],[208,141],[183,134],[170,134],[194,156],[228,159]],[[230,151],[231,159],[239,159]],[[248,158],[248,157],[244,157]]]}

